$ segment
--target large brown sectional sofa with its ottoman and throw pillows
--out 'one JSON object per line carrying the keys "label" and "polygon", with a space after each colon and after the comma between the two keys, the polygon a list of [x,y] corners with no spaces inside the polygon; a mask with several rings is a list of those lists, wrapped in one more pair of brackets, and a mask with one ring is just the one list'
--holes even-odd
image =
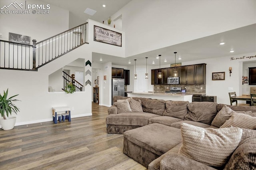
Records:
{"label": "large brown sectional sofa with its ottoman and throw pillows", "polygon": [[256,168],[255,106],[121,96],[113,102],[107,132],[124,134],[124,154],[149,170]]}

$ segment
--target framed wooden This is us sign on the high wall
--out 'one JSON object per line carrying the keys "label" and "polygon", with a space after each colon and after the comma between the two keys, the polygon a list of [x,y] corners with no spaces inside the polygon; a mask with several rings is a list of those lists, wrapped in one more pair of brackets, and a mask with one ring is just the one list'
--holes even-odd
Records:
{"label": "framed wooden This is us sign on the high wall", "polygon": [[106,28],[94,26],[94,41],[122,47],[122,34]]}

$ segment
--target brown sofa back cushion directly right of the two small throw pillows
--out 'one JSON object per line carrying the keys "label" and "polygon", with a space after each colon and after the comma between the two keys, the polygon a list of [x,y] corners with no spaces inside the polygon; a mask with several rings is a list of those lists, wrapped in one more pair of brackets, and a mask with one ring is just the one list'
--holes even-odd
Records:
{"label": "brown sofa back cushion directly right of the two small throw pillows", "polygon": [[142,103],[142,109],[144,112],[153,113],[156,115],[163,115],[165,110],[165,100],[160,99],[146,99],[140,98]]}

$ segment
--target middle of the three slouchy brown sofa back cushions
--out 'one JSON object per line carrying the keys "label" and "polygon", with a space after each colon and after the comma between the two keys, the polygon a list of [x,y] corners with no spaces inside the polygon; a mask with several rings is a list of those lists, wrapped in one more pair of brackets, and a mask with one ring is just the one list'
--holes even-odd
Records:
{"label": "middle of the three slouchy brown sofa back cushions", "polygon": [[188,101],[166,101],[166,109],[163,116],[171,116],[184,120],[185,115],[188,113],[188,103]]}

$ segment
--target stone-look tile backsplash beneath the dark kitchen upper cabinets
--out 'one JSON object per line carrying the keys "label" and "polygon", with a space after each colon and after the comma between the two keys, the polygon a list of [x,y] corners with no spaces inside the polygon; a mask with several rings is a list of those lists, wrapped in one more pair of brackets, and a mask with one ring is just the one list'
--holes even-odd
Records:
{"label": "stone-look tile backsplash beneath the dark kitchen upper cabinets", "polygon": [[170,87],[181,87],[181,89],[186,87],[188,93],[206,93],[206,85],[154,85],[154,92],[170,91]]}

